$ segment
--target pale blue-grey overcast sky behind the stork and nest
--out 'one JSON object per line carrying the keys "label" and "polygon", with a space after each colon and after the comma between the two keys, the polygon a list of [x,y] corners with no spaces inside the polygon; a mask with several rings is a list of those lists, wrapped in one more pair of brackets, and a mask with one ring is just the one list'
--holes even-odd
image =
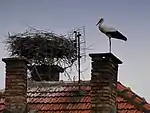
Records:
{"label": "pale blue-grey overcast sky behind the stork and nest", "polygon": [[[112,41],[113,53],[123,61],[119,81],[150,102],[149,5],[150,0],[0,0],[0,58],[8,56],[4,43],[8,32],[23,32],[28,26],[65,34],[85,25],[87,46],[93,45],[87,54],[108,52],[108,39],[96,27],[103,17],[107,26],[128,37],[127,42]],[[4,66],[1,61],[0,88],[4,88]],[[90,79],[90,71],[84,79]]]}

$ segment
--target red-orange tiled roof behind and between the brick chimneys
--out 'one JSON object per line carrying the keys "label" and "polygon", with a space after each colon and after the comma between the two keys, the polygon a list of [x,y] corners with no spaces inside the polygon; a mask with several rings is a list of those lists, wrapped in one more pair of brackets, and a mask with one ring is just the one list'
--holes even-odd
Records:
{"label": "red-orange tiled roof behind and between the brick chimneys", "polygon": [[[28,108],[38,113],[90,113],[90,81],[81,83],[38,82],[28,83]],[[117,104],[119,113],[149,113],[150,104],[134,92],[117,84]],[[4,98],[0,99],[0,111],[4,109]]]}

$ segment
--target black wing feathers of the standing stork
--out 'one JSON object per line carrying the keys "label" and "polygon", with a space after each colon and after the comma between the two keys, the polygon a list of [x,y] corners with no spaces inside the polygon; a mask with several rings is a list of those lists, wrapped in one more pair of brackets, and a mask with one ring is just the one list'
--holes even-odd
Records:
{"label": "black wing feathers of the standing stork", "polygon": [[127,41],[127,38],[123,36],[119,31],[106,32],[106,35],[110,36],[111,38]]}

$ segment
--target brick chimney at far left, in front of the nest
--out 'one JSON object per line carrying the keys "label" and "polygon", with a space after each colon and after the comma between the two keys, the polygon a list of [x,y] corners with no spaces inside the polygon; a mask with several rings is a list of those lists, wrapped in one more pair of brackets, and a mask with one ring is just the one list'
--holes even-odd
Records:
{"label": "brick chimney at far left, in front of the nest", "polygon": [[4,113],[27,111],[27,61],[23,58],[3,58],[6,63]]}

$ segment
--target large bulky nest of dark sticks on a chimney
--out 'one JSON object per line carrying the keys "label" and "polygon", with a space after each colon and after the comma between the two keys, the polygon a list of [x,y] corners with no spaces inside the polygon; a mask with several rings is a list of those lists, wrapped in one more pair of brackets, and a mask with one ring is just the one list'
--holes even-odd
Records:
{"label": "large bulky nest of dark sticks on a chimney", "polygon": [[30,30],[10,35],[7,40],[11,56],[23,56],[32,64],[72,65],[76,60],[74,40],[52,32]]}

